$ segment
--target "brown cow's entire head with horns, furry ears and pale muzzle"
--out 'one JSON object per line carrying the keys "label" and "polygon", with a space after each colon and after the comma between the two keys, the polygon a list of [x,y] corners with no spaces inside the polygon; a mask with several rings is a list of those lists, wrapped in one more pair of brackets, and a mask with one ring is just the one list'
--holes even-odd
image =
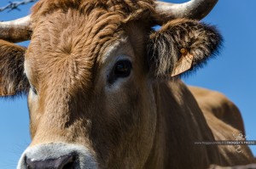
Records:
{"label": "brown cow's entire head with horns, furry ears and pale muzzle", "polygon": [[[1,23],[0,93],[27,93],[30,111],[18,168],[142,168],[158,125],[155,80],[204,63],[221,40],[181,18],[215,3],[41,0]],[[27,49],[10,43],[30,37]]]}

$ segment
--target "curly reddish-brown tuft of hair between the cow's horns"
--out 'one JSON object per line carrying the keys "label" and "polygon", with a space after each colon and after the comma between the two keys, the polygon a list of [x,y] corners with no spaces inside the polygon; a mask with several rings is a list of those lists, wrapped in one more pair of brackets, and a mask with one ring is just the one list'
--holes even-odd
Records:
{"label": "curly reddish-brown tuft of hair between the cow's horns", "polygon": [[[78,10],[80,14],[89,15],[94,11],[101,13],[116,13],[124,18],[132,18],[144,12],[154,11],[154,0],[40,0],[32,8],[33,20],[39,20],[42,15],[54,11],[66,13],[69,9]],[[143,17],[148,17],[143,15]]]}

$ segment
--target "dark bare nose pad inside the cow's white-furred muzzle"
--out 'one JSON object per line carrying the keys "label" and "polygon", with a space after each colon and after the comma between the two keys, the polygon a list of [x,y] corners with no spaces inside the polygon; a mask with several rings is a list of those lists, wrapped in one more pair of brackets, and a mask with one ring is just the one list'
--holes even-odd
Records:
{"label": "dark bare nose pad inside the cow's white-furred muzzle", "polygon": [[36,161],[33,159],[26,159],[26,166],[28,169],[73,169],[75,155],[64,155],[56,159],[47,159],[44,161]]}

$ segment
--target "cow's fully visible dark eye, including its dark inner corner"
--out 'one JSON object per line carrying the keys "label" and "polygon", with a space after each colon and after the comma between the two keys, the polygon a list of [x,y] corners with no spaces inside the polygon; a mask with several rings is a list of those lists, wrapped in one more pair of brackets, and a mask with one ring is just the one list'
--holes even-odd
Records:
{"label": "cow's fully visible dark eye, including its dark inner corner", "polygon": [[113,66],[113,70],[108,75],[108,83],[113,84],[118,78],[125,78],[131,74],[131,61],[128,59],[119,60]]}

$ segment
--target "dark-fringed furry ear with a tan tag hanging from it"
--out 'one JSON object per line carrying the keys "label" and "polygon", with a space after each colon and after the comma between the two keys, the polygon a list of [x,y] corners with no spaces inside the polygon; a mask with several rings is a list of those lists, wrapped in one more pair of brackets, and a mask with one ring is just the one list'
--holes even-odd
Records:
{"label": "dark-fringed furry ear with a tan tag hanging from it", "polygon": [[172,20],[154,31],[148,42],[148,63],[154,76],[177,76],[195,70],[218,53],[222,37],[197,20]]}

